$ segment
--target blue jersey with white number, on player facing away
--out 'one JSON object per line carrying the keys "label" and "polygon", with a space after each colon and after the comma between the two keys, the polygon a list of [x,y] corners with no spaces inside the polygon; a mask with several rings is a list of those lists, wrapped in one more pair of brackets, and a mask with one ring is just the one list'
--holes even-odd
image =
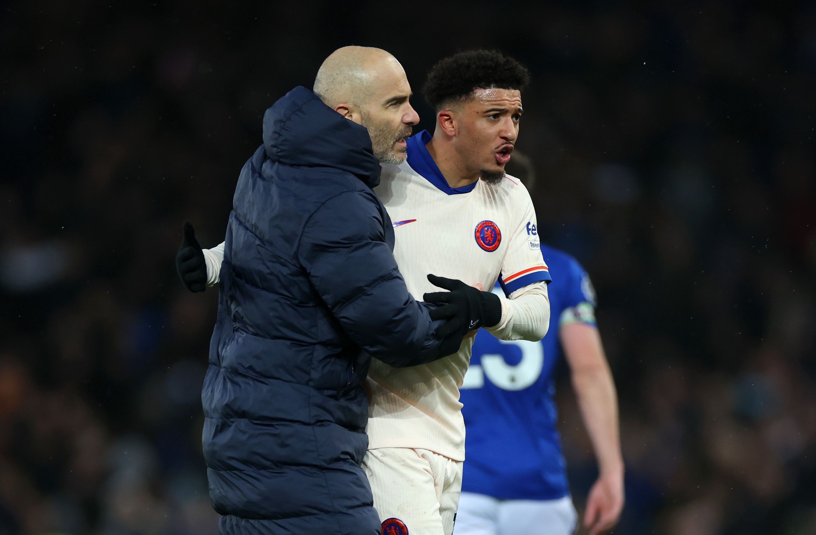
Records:
{"label": "blue jersey with white number, on player facing away", "polygon": [[552,273],[547,336],[541,342],[505,341],[482,329],[473,343],[460,389],[467,430],[464,492],[504,500],[569,493],[552,373],[561,358],[558,328],[575,321],[595,325],[595,294],[569,254],[544,244],[541,252]]}

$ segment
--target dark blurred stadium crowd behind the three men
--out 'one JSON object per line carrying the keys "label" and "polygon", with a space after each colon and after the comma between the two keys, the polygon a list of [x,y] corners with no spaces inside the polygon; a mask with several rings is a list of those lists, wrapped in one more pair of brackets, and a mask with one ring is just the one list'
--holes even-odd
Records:
{"label": "dark blurred stadium crowd behind the three men", "polygon": [[592,274],[619,388],[615,533],[816,533],[816,4],[577,3],[4,4],[0,534],[215,533],[217,292],[176,279],[181,223],[222,241],[264,109],[347,44],[401,60],[422,128],[441,57],[530,68],[539,228]]}

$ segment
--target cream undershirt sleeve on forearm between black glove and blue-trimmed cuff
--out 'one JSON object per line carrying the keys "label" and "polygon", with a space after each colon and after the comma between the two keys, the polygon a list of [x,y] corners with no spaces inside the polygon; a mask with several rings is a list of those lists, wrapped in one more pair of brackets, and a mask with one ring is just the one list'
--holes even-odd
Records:
{"label": "cream undershirt sleeve on forearm between black glove and blue-trimmed cuff", "polygon": [[550,326],[550,298],[547,283],[534,282],[510,294],[499,295],[502,301],[502,319],[499,325],[487,329],[502,340],[530,340],[538,342]]}

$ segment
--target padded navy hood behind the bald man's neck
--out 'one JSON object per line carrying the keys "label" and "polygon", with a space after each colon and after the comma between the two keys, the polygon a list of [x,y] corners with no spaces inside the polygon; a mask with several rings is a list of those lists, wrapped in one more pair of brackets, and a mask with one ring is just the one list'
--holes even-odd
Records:
{"label": "padded navy hood behind the bald man's neck", "polygon": [[270,160],[285,166],[333,167],[357,175],[370,188],[379,184],[368,130],[303,86],[264,113],[264,148]]}

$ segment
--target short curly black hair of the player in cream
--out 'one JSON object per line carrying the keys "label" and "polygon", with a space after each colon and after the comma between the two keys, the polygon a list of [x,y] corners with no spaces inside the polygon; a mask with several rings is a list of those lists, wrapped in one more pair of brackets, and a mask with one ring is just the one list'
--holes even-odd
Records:
{"label": "short curly black hair of the player in cream", "polygon": [[425,101],[439,111],[453,101],[468,97],[474,89],[517,89],[530,83],[530,73],[516,60],[499,51],[459,52],[439,61],[428,73],[422,88]]}

